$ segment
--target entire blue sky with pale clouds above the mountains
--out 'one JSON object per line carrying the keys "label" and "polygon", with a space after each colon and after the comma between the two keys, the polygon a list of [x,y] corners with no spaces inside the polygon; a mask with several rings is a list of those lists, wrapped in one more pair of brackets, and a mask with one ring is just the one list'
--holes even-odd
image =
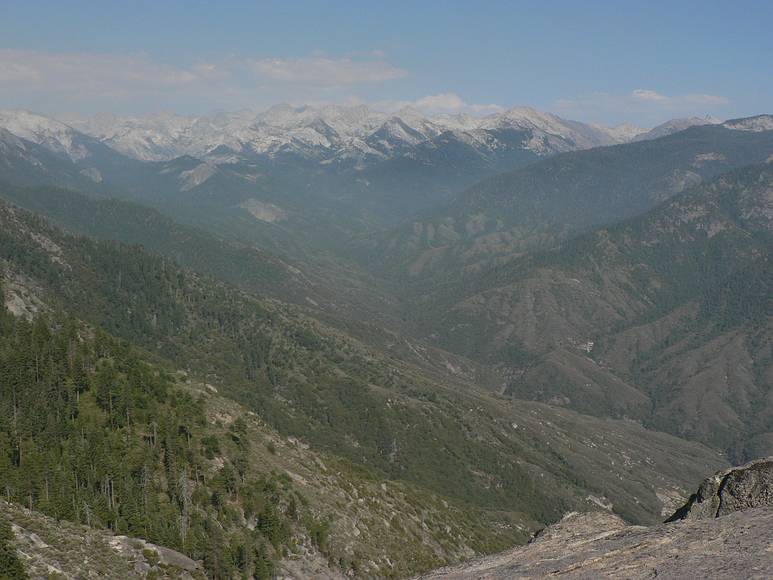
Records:
{"label": "entire blue sky with pale clouds above the mountains", "polygon": [[773,112],[773,2],[0,0],[0,107]]}

